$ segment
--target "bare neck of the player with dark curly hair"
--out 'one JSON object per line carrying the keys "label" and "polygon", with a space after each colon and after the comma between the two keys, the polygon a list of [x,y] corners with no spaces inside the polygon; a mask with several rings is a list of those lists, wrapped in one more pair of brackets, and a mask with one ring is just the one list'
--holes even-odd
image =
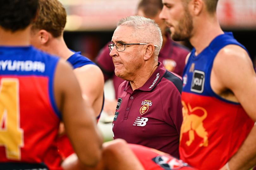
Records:
{"label": "bare neck of the player with dark curly hair", "polygon": [[0,46],[29,46],[30,26],[15,32],[6,31],[0,27]]}

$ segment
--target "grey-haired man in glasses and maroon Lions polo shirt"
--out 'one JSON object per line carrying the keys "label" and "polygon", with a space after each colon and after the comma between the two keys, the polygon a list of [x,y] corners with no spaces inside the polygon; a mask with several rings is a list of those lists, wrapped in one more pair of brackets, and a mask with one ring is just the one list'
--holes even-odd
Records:
{"label": "grey-haired man in glasses and maroon Lions polo shirt", "polygon": [[118,90],[113,137],[179,157],[182,81],[157,62],[161,46],[153,20],[130,16],[118,22],[108,47],[115,74],[126,81]]}

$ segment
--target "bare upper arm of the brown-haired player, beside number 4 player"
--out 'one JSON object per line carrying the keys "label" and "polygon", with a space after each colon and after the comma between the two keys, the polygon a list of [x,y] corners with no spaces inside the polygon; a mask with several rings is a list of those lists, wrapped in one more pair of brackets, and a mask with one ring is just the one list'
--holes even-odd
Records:
{"label": "bare upper arm of the brown-haired player, beside number 4 player", "polygon": [[101,69],[96,65],[84,65],[74,70],[82,89],[82,95],[87,96],[89,105],[94,110],[95,117],[101,112],[103,101],[104,77]]}

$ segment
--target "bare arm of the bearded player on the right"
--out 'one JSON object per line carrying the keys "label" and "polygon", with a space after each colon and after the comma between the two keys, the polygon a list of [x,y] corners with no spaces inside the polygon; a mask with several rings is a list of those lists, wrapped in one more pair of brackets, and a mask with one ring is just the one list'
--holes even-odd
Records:
{"label": "bare arm of the bearded player on the right", "polygon": [[[241,103],[248,116],[256,121],[256,105],[253,104],[256,101],[256,75],[247,52],[236,45],[223,48],[216,56],[211,76],[218,84],[211,83],[214,91],[230,89],[234,93],[233,99]],[[255,157],[256,126],[229,160],[229,167],[231,170],[249,169],[256,164]]]}

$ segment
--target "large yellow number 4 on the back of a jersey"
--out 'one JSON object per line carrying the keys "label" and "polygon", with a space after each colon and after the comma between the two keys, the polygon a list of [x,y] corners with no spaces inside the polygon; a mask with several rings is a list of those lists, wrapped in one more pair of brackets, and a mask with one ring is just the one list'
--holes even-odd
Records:
{"label": "large yellow number 4 on the back of a jersey", "polygon": [[0,146],[5,147],[8,159],[21,159],[23,141],[23,130],[20,128],[19,81],[16,78],[2,78],[0,82]]}

